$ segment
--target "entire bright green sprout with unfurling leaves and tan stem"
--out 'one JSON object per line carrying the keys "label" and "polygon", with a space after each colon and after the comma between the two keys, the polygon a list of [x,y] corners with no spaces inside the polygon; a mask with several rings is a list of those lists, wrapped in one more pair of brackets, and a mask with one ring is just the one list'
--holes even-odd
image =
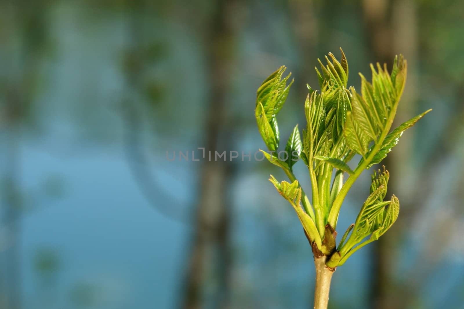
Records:
{"label": "entire bright green sprout with unfurling leaves and tan stem", "polygon": [[[304,104],[306,128],[302,136],[298,125],[290,134],[284,151],[279,151],[277,114],[283,107],[290,86],[290,75],[283,78],[285,66],[271,74],[258,88],[256,121],[268,151],[264,156],[282,168],[290,179],[269,179],[277,191],[296,211],[304,232],[312,245],[316,264],[315,309],[327,308],[330,281],[337,266],[362,246],[378,240],[398,218],[400,203],[395,195],[384,201],[389,173],[374,171],[370,195],[363,203],[354,224],[350,225],[336,245],[335,231],[343,200],[353,183],[365,169],[379,164],[398,143],[403,132],[430,110],[390,130],[405,87],[407,63],[395,57],[392,72],[387,65],[370,65],[372,82],[361,76],[361,94],[347,87],[348,62],[342,51],[338,61],[332,53],[325,57],[327,65],[316,68],[320,91],[309,85]],[[322,72],[322,73],[321,73]],[[287,84],[288,83],[288,84]],[[284,156],[281,156],[281,153]],[[355,154],[360,160],[354,170],[348,163]],[[284,158],[281,158],[284,157]],[[293,174],[293,166],[301,158],[308,167],[312,201]],[[335,173],[335,175],[334,175]],[[346,181],[344,174],[348,174]]]}

